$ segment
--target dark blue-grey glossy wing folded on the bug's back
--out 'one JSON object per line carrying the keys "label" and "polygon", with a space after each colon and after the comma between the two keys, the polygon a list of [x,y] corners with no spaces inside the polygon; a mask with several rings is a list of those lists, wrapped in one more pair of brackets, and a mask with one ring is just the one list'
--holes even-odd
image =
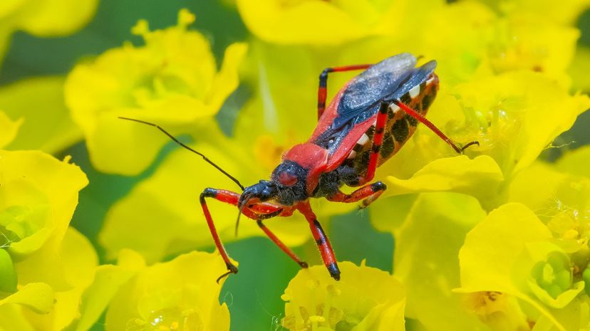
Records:
{"label": "dark blue-grey glossy wing folded on the bug's back", "polygon": [[375,116],[382,101],[399,100],[412,88],[428,79],[436,68],[430,61],[415,68],[416,58],[402,53],[371,66],[348,84],[337,114],[326,131],[314,143],[333,154],[356,125]]}

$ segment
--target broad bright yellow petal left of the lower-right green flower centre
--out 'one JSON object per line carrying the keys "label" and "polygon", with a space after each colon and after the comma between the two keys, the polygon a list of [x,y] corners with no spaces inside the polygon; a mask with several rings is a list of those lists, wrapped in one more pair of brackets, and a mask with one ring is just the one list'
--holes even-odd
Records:
{"label": "broad bright yellow petal left of the lower-right green flower centre", "polygon": [[[530,250],[534,243],[552,246],[552,233],[523,204],[509,203],[490,212],[465,238],[459,252],[461,288],[457,293],[501,293],[513,295],[532,306],[549,325],[565,331],[569,315],[550,311],[529,295],[527,280],[533,263],[544,256],[542,250]],[[527,312],[531,314],[532,312]],[[574,314],[577,314],[574,312]],[[566,317],[566,319],[564,319]],[[569,318],[571,320],[571,318]]]}

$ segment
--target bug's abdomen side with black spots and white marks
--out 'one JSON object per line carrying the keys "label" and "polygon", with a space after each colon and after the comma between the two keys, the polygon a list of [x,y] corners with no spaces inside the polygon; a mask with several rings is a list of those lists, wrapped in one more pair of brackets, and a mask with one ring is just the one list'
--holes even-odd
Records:
{"label": "bug's abdomen side with black spots and white marks", "polygon": [[[400,101],[421,115],[426,115],[428,107],[433,103],[437,92],[438,76],[433,73],[428,80],[425,80],[420,85],[416,85],[408,93],[405,93],[400,98]],[[383,144],[379,150],[378,166],[387,161],[403,147],[405,142],[413,135],[418,125],[418,120],[401,110],[395,103],[390,104],[387,116]],[[356,172],[361,176],[364,176],[367,172],[374,134],[375,125],[369,127],[361,139],[358,140],[345,162],[348,166],[356,169]]]}

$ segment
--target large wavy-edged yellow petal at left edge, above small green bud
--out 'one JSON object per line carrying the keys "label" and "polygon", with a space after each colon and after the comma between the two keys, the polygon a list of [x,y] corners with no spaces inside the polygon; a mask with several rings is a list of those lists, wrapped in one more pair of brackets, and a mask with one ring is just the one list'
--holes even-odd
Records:
{"label": "large wavy-edged yellow petal at left edge, above small green bud", "polygon": [[26,234],[34,241],[23,244],[35,247],[33,251],[11,245],[14,253],[22,253],[16,263],[19,282],[43,281],[59,290],[68,287],[60,247],[78,203],[78,191],[88,183],[86,175],[75,165],[43,152],[0,151],[0,181],[0,209],[22,211],[16,220],[30,229]]}

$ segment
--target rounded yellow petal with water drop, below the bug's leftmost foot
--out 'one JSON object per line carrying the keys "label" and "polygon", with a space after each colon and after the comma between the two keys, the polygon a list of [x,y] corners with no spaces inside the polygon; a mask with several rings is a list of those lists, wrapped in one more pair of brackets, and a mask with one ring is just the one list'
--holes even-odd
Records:
{"label": "rounded yellow petal with water drop, below the bug's leftmost foot", "polygon": [[227,305],[219,305],[226,270],[217,254],[192,252],[140,271],[110,303],[106,330],[142,325],[178,330],[229,330]]}

